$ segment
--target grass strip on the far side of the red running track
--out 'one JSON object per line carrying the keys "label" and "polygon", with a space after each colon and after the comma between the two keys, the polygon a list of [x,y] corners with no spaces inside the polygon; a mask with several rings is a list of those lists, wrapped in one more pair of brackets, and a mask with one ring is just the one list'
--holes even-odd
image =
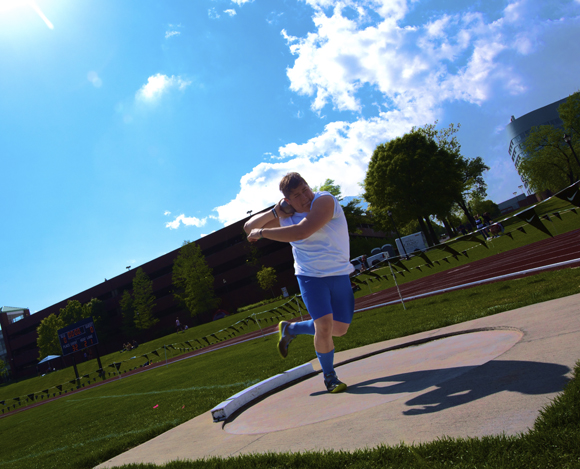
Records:
{"label": "grass strip on the far side of the red running track", "polygon": [[[572,205],[566,204],[560,199],[552,198],[538,205],[536,210],[538,214],[543,215],[566,211],[572,207]],[[544,221],[544,224],[552,234],[557,235],[580,227],[580,215],[567,211],[562,213],[561,217],[561,220],[552,218],[553,222]],[[489,249],[481,244],[470,241],[455,241],[450,243],[450,245],[459,252],[467,250],[469,257],[461,255],[457,259],[454,259],[445,251],[431,249],[428,251],[427,255],[429,259],[435,263],[432,268],[421,267],[421,270],[417,269],[417,266],[424,265],[425,261],[420,257],[413,257],[410,261],[405,261],[405,265],[410,270],[410,273],[404,272],[402,275],[398,275],[397,281],[399,284],[404,284],[437,272],[457,268],[478,259],[483,259],[517,247],[525,246],[548,237],[546,234],[533,227],[526,227],[526,234],[517,231],[517,227],[522,225],[524,225],[524,223],[519,219],[509,218],[508,221],[505,222],[505,227],[506,231],[515,230],[513,233],[513,239],[510,239],[507,236],[494,239],[488,243]],[[445,257],[449,258],[449,263],[442,260]],[[359,276],[358,278],[361,281],[364,281],[364,283],[361,285],[361,290],[355,294],[356,298],[394,286],[389,267],[377,269],[376,272],[381,276],[388,276],[388,280],[379,280],[370,275],[364,274]],[[112,377],[117,374],[116,368],[111,366],[114,363],[120,364],[119,372],[122,375],[124,372],[140,367],[147,361],[162,362],[165,361],[166,354],[167,358],[172,358],[185,353],[186,349],[190,349],[190,346],[184,344],[184,342],[190,341],[191,346],[197,349],[202,347],[201,344],[206,344],[202,339],[203,337],[207,338],[210,343],[216,343],[223,340],[229,334],[233,333],[232,329],[229,329],[228,331],[225,330],[232,325],[238,324],[236,327],[240,333],[258,330],[259,326],[252,321],[247,322],[247,324],[242,324],[240,328],[239,322],[251,314],[256,314],[256,317],[261,317],[263,319],[262,327],[265,325],[271,325],[273,321],[276,320],[277,322],[277,318],[273,313],[267,312],[287,301],[288,300],[275,301],[273,303],[261,305],[249,311],[234,314],[220,319],[219,321],[203,324],[184,332],[170,334],[146,344],[141,344],[137,349],[130,352],[114,352],[101,357],[101,363],[107,372],[107,377]],[[214,333],[217,333],[215,337],[212,336]],[[196,341],[196,339],[199,339],[199,341]],[[174,344],[175,348],[163,348],[164,345],[170,344]],[[150,353],[154,350],[156,350],[159,355]],[[142,357],[144,354],[147,354],[148,357]],[[101,380],[97,373],[98,368],[96,359],[78,365],[79,375],[83,377],[80,382],[81,386]],[[10,404],[10,406],[16,405],[17,407],[23,407],[33,402],[28,398],[29,394],[34,394],[34,401],[38,401],[39,399],[46,399],[47,395],[53,397],[54,395],[64,393],[65,391],[70,392],[77,387],[77,383],[74,380],[74,371],[72,367],[69,367],[63,370],[58,370],[54,373],[49,373],[45,376],[31,378],[10,385],[3,385],[0,386],[0,401],[5,400],[7,406]],[[63,385],[61,390],[55,388],[55,386],[59,385]],[[44,391],[48,391],[48,393]],[[15,397],[20,397],[20,401],[14,401],[13,398]],[[0,408],[2,407],[0,406]]]}

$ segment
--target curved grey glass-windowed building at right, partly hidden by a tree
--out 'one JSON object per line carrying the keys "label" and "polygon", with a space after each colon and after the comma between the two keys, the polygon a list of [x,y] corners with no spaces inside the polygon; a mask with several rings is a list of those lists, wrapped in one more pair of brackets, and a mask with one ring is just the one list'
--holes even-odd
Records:
{"label": "curved grey glass-windowed building at right, partly hidden by a tree", "polygon": [[[510,123],[506,127],[510,141],[508,152],[514,162],[518,174],[520,174],[520,177],[522,178],[522,182],[526,186],[526,189],[529,189],[528,182],[519,172],[520,163],[522,159],[526,157],[522,144],[530,134],[532,127],[553,125],[554,127],[563,128],[564,124],[558,114],[558,107],[560,107],[560,104],[564,103],[566,99],[567,98],[561,99],[560,101],[548,104],[547,106],[536,109],[535,111],[528,112],[517,119],[512,116]],[[562,132],[562,136],[563,135],[564,133]]]}

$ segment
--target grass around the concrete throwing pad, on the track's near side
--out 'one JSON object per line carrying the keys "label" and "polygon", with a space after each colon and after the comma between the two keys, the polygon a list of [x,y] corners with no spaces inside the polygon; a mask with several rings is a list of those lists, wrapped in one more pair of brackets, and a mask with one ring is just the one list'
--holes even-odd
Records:
{"label": "grass around the concrete throwing pad, on the track's near side", "polygon": [[[407,336],[578,292],[580,269],[563,269],[415,300],[407,305],[407,311],[400,305],[379,308],[356,314],[349,334],[337,338],[336,347],[337,350],[345,350]],[[286,360],[279,358],[275,341],[274,336],[259,338],[167,367],[121,378],[104,386],[2,418],[0,468],[94,467],[207,412],[214,405],[253,383],[315,357],[310,338],[299,337],[293,342],[292,353]],[[576,397],[572,401],[578,407],[578,392],[574,396]],[[516,448],[514,454],[522,452],[521,461],[528,463],[526,467],[550,467],[549,464],[531,464],[530,461],[534,460],[537,451],[530,451],[542,448],[539,446],[542,444],[551,451],[550,458],[561,457],[569,463],[572,461],[570,455],[578,457],[580,446],[577,444],[580,435],[578,412],[558,412],[561,419],[558,417],[555,421],[562,427],[560,430],[554,430],[554,423],[542,424],[544,427],[540,425],[536,433],[530,434],[536,436],[527,436],[527,440],[449,440],[436,443],[432,447],[401,446],[361,451],[355,453],[358,454],[358,459],[349,459],[354,456],[343,453],[270,455],[257,456],[251,460],[243,457],[233,461],[217,461],[214,467],[236,467],[235,464],[238,464],[237,467],[331,467],[328,464],[334,464],[332,467],[337,464],[342,467],[347,464],[353,467],[388,467],[388,464],[392,467],[419,467],[425,462],[428,462],[428,467],[442,467],[451,462],[465,463],[464,466],[457,467],[473,467],[473,461],[477,458],[489,457],[492,453],[500,456],[490,467],[501,467],[497,462],[504,461],[503,453],[509,453],[509,448]],[[552,421],[554,419],[550,420]],[[569,421],[573,424],[568,423]],[[554,449],[555,441],[557,449]],[[339,461],[342,462],[339,464]],[[523,463],[515,466],[510,461],[505,459],[503,467],[524,467]],[[203,467],[207,467],[207,462],[203,464]],[[568,467],[574,466],[569,464]]]}

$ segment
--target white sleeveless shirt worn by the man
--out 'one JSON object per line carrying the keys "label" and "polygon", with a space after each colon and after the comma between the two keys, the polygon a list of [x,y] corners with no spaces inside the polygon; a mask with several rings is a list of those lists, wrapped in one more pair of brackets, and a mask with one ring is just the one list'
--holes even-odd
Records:
{"label": "white sleeveless shirt worn by the man", "polygon": [[[334,200],[332,219],[316,233],[300,241],[292,241],[294,272],[308,277],[330,277],[348,275],[354,267],[349,261],[350,244],[348,226],[342,207],[330,192],[316,192],[312,203],[318,197],[330,196]],[[310,205],[312,207],[312,204]],[[288,218],[280,218],[280,226],[297,225],[308,213],[295,213]]]}

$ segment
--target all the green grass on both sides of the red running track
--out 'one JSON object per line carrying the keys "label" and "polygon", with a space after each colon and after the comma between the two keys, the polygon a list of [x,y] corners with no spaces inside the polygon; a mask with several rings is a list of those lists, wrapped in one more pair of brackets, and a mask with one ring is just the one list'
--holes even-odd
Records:
{"label": "all the green grass on both sides of the red running track", "polygon": [[[558,199],[542,206],[545,213],[569,208]],[[510,224],[513,229],[520,222],[512,220]],[[562,215],[562,220],[554,219],[553,224],[545,222],[545,225],[553,234],[564,233],[580,226],[580,216],[567,212]],[[509,231],[509,226],[506,223],[506,231]],[[398,276],[398,280],[404,283],[547,237],[531,227],[526,228],[526,232],[524,235],[516,231],[513,240],[506,236],[495,239],[489,243],[490,249],[474,243],[457,242],[453,247],[458,251],[473,249],[469,249],[469,257],[451,258],[449,264],[441,261],[449,254],[430,251],[429,258],[433,262],[440,261],[439,265],[432,269],[422,268],[422,271],[411,269],[410,274]],[[416,257],[407,265],[412,268],[423,262]],[[377,281],[373,278],[371,282],[369,278],[369,283],[363,285],[357,295],[392,287],[390,272],[383,271],[381,275],[387,273],[389,280]],[[563,269],[415,300],[407,303],[406,311],[401,305],[379,308],[356,314],[349,333],[336,339],[336,348],[346,350],[404,337],[579,292],[580,269]],[[115,352],[102,357],[103,365],[110,372],[114,370],[107,368],[107,365],[122,362],[121,375],[113,382],[0,419],[0,468],[94,467],[207,412],[251,384],[312,360],[315,355],[311,339],[298,338],[292,344],[288,359],[281,360],[275,348],[275,338],[270,336],[135,376],[124,377],[122,373],[145,362],[141,357],[143,354],[149,354],[155,361],[164,361],[163,345],[211,337],[254,313],[262,313],[261,317],[269,319],[263,325],[272,324],[277,318],[268,311],[282,303],[284,301],[262,305],[183,333],[141,344],[134,353]],[[246,322],[240,333],[259,328],[254,322]],[[222,338],[218,334],[217,339],[211,338],[210,341],[217,342]],[[199,342],[196,347],[198,345]],[[159,356],[151,356],[153,350],[160,351]],[[168,357],[182,354],[182,350],[179,347],[168,349]],[[95,373],[97,368],[95,360],[80,364],[81,376],[89,375],[81,383],[94,383],[95,379],[99,381]],[[172,463],[167,467],[202,467],[200,464],[203,467],[580,467],[578,372],[577,369],[577,377],[569,386],[573,391],[567,390],[564,397],[543,414],[532,432],[517,438],[444,440],[428,445],[382,447],[353,454],[330,452],[244,456],[224,461]],[[13,401],[16,396],[27,396],[48,388],[52,388],[51,392],[54,393],[54,386],[70,382],[74,377],[72,368],[68,368],[44,377],[0,386],[0,401],[5,401],[0,409],[7,409],[9,405],[12,408],[16,404]],[[69,386],[69,389],[76,387],[70,383]],[[480,464],[488,460],[489,463]]]}

